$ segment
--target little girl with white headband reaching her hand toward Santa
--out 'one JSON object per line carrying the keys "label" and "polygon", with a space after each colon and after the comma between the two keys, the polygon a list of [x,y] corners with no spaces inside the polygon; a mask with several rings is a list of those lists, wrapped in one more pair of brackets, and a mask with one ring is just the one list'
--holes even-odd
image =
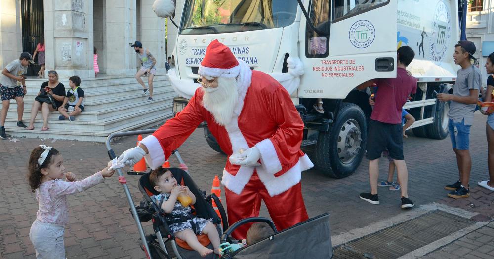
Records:
{"label": "little girl with white headband reaching her hand toward Santa", "polygon": [[[76,176],[64,173],[62,155],[52,147],[40,145],[31,152],[28,164],[31,191],[36,193],[38,212],[31,225],[29,239],[36,250],[36,258],[64,259],[64,225],[69,221],[67,194],[82,192],[105,181],[115,171],[109,167],[77,181]],[[66,181],[63,181],[63,177]]]}

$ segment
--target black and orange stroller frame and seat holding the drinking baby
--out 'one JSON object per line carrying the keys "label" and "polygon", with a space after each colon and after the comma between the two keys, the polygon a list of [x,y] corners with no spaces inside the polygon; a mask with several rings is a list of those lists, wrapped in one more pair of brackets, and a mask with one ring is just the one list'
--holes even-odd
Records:
{"label": "black and orange stroller frame and seat holding the drinking baby", "polygon": [[[108,150],[108,154],[111,159],[116,157],[115,152],[110,147],[110,141],[116,137],[123,136],[132,136],[138,134],[149,134],[153,133],[155,130],[138,130],[138,131],[128,131],[128,132],[117,132],[108,136],[106,141],[106,148]],[[173,155],[178,159],[181,168],[169,168],[173,177],[177,180],[180,185],[185,185],[189,187],[190,191],[194,193],[196,196],[196,203],[193,205],[194,215],[196,217],[201,217],[204,219],[212,218],[213,224],[216,225],[219,235],[223,233],[223,230],[228,228],[228,220],[226,217],[225,210],[221,205],[219,198],[215,194],[208,195],[206,197],[206,192],[200,190],[197,185],[192,180],[187,170],[186,165],[184,164],[180,154],[178,151],[173,151]],[[185,169],[185,170],[184,170]],[[139,179],[139,190],[143,195],[143,200],[140,202],[139,206],[135,206],[130,195],[130,191],[128,190],[128,186],[126,185],[126,180],[122,171],[117,169],[117,173],[119,174],[119,182],[123,185],[125,195],[127,196],[127,200],[131,205],[129,211],[132,213],[132,217],[134,218],[137,228],[139,230],[141,244],[141,249],[146,253],[146,257],[149,259],[171,259],[172,257],[176,257],[177,259],[197,259],[203,258],[196,251],[192,250],[186,242],[176,238],[171,229],[168,226],[168,223],[165,219],[165,214],[158,207],[158,205],[151,200],[152,195],[157,195],[159,192],[155,191],[150,186],[149,175],[150,173],[146,173],[142,175]],[[220,212],[221,218],[216,214],[212,207],[212,201],[216,203],[218,210]],[[223,219],[223,222],[222,220]],[[144,229],[142,228],[141,222],[152,221],[153,223],[153,231],[154,233],[146,235]],[[220,227],[222,225],[222,227]],[[142,242],[145,240],[146,242]],[[207,238],[207,235],[199,235],[198,240],[204,246],[212,249],[212,245]],[[170,253],[173,251],[173,254]],[[218,258],[216,254],[210,254],[206,259],[215,259]]]}

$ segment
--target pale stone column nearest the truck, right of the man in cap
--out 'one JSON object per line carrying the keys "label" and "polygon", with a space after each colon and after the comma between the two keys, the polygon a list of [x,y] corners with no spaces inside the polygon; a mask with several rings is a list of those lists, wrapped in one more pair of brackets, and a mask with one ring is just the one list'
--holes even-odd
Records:
{"label": "pale stone column nearest the truck, right of the man in cap", "polygon": [[149,50],[156,58],[156,72],[166,72],[166,49],[165,49],[165,19],[156,16],[153,12],[154,0],[140,0],[140,39],[142,46]]}

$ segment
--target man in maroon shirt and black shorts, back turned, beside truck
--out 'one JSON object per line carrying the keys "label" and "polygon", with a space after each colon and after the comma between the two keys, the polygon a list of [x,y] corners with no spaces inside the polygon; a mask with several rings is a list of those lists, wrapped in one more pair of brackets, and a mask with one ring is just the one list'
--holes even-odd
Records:
{"label": "man in maroon shirt and black shorts, back turned, beside truck", "polygon": [[402,208],[412,208],[413,202],[408,198],[408,171],[403,156],[402,108],[410,94],[417,90],[417,80],[405,70],[412,62],[415,53],[409,46],[398,49],[396,78],[372,79],[360,84],[358,89],[365,89],[371,84],[378,87],[375,104],[367,137],[366,157],[369,159],[369,178],[371,192],[361,193],[360,198],[372,204],[379,204],[377,196],[377,178],[379,176],[379,157],[384,150],[389,151],[398,171],[401,184]]}

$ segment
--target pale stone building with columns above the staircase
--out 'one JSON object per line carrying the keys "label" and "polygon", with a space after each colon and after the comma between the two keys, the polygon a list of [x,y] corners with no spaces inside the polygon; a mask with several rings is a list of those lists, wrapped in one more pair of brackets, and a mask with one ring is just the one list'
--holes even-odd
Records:
{"label": "pale stone building with columns above the staircase", "polygon": [[[46,69],[62,77],[94,77],[93,47],[100,73],[131,76],[139,64],[130,45],[139,40],[157,58],[165,73],[165,19],[151,6],[154,0],[1,0],[0,66],[22,51],[34,52],[42,37]],[[31,66],[35,75],[38,67]]]}

